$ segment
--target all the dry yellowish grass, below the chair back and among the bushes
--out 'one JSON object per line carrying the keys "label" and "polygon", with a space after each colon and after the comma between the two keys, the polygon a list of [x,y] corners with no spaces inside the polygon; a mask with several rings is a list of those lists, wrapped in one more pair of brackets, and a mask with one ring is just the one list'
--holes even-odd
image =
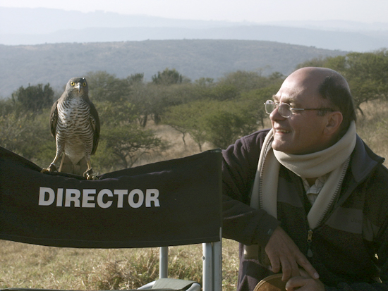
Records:
{"label": "all the dry yellowish grass, below the chair back and among the bushes", "polygon": [[[375,101],[363,105],[358,116],[360,137],[380,156],[387,156],[388,105]],[[269,123],[267,123],[269,126]],[[199,152],[198,145],[166,125],[149,125],[171,147],[145,156],[139,163],[175,159]],[[212,149],[209,144],[202,150]],[[42,247],[0,240],[0,287],[32,287],[67,290],[132,289],[158,276],[158,249],[70,249]],[[169,276],[201,282],[202,247],[171,247]],[[223,290],[236,290],[238,244],[223,240]]]}

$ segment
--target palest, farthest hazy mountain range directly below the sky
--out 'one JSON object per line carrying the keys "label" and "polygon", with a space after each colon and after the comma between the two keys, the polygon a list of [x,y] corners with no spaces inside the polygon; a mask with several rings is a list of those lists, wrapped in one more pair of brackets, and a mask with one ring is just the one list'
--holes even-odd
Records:
{"label": "palest, farthest hazy mountain range directly below the sky", "polygon": [[388,23],[343,20],[234,23],[95,11],[0,7],[0,44],[239,39],[340,51],[388,47]]}

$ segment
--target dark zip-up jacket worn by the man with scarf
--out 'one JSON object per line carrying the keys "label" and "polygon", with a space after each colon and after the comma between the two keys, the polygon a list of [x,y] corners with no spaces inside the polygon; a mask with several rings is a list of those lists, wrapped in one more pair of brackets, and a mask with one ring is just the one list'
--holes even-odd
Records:
{"label": "dark zip-up jacket worn by the man with scarf", "polygon": [[[281,166],[277,219],[249,206],[267,132],[242,137],[223,151],[224,237],[265,247],[281,225],[307,257],[310,204],[301,178]],[[357,137],[341,192],[313,230],[308,259],[327,290],[388,290],[388,171],[383,161]],[[272,274],[259,261],[245,260],[242,245],[240,261],[238,290],[253,290]],[[376,277],[383,283],[374,283]]]}

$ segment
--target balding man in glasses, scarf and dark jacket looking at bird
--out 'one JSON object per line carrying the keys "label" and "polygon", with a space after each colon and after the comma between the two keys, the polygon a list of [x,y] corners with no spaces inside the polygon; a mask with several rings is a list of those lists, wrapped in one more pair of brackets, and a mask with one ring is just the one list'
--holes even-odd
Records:
{"label": "balding man in glasses, scarf and dark jacket looking at bird", "polygon": [[346,80],[301,68],[264,106],[272,128],[223,151],[238,290],[274,273],[287,290],[388,290],[388,172],[356,134]]}

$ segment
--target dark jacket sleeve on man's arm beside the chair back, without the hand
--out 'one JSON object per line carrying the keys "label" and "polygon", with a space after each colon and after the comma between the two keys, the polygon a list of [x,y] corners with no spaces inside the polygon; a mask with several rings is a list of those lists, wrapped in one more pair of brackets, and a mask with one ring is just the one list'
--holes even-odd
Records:
{"label": "dark jacket sleeve on man's arm beside the chair back, without the hand", "polygon": [[266,135],[267,131],[262,131],[243,137],[222,151],[222,233],[243,244],[262,247],[279,225],[279,221],[266,211],[249,206],[260,147]]}

